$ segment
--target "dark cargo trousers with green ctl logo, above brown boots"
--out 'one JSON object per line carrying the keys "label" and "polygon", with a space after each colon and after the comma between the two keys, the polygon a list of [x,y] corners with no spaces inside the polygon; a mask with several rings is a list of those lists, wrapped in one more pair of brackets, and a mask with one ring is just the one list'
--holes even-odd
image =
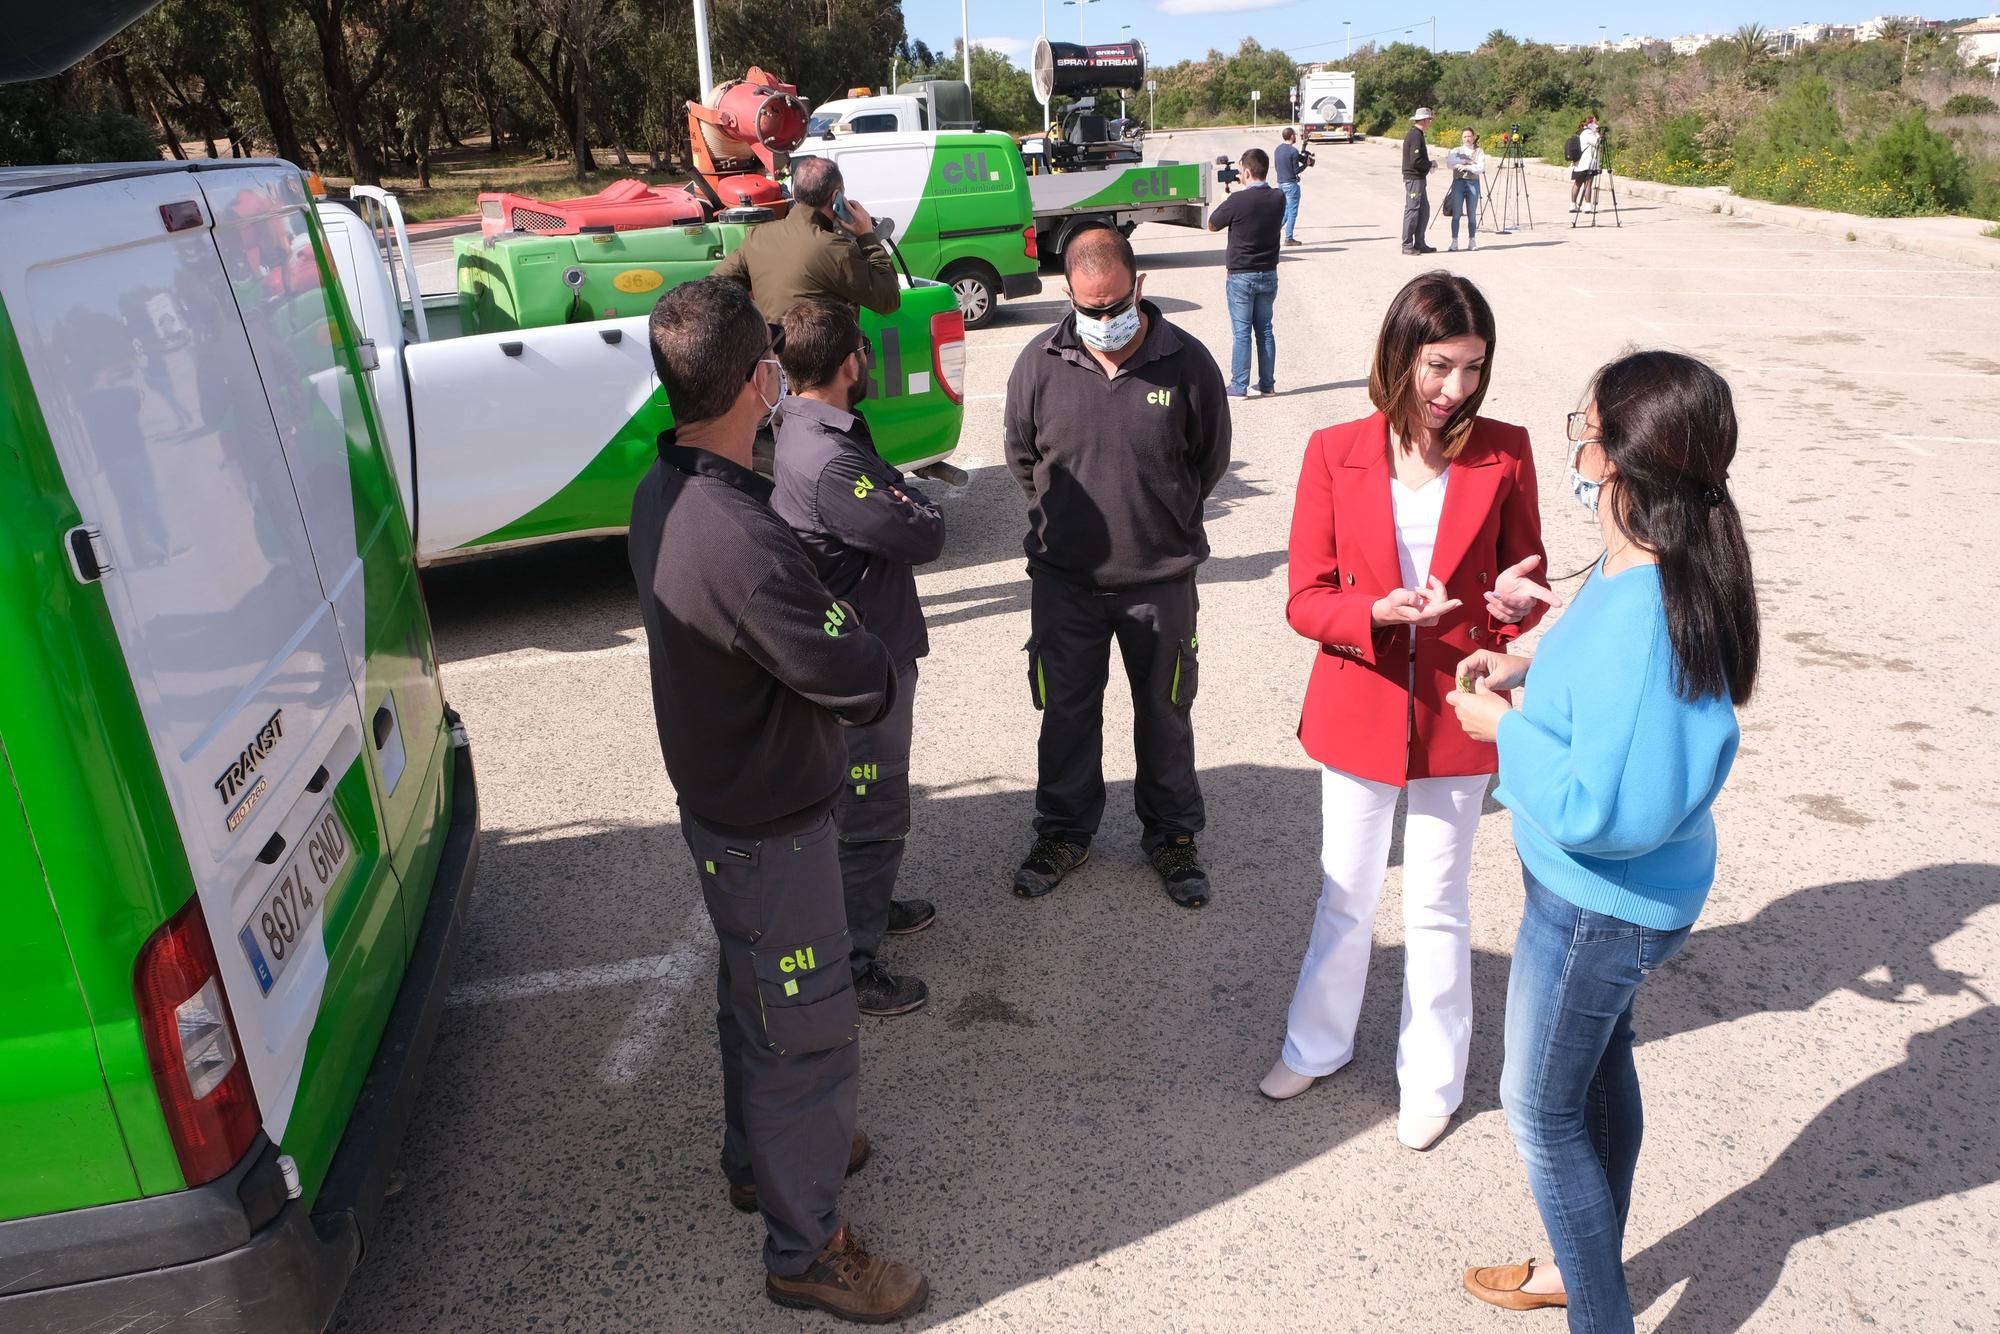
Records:
{"label": "dark cargo trousers with green ctl logo, above brown boots", "polygon": [[860,1084],[834,820],[744,838],[682,806],[680,832],[722,944],[722,1174],[756,1182],[764,1268],[796,1276],[840,1228]]}

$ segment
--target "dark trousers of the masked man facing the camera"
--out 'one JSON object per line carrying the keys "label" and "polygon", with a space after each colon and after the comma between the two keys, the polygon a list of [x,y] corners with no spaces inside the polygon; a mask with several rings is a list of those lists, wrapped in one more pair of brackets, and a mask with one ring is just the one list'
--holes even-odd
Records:
{"label": "dark trousers of the masked man facing the camera", "polygon": [[1188,714],[1200,684],[1194,576],[1096,592],[1030,574],[1028,686],[1042,710],[1034,832],[1088,846],[1104,818],[1104,684],[1116,638],[1132,682],[1132,804],[1146,852],[1176,834],[1200,834],[1202,784]]}

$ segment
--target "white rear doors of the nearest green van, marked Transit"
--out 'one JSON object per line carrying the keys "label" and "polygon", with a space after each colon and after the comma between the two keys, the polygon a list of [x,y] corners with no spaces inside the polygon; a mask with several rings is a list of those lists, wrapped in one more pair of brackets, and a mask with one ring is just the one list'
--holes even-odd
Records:
{"label": "white rear doors of the nearest green van, marked Transit", "polygon": [[90,530],[74,574],[102,588],[264,1130],[310,1200],[406,956],[372,738],[274,420],[300,430],[306,390],[268,396],[246,332],[318,260],[270,238],[262,272],[232,272],[202,172],[122,172],[0,200],[0,290]]}

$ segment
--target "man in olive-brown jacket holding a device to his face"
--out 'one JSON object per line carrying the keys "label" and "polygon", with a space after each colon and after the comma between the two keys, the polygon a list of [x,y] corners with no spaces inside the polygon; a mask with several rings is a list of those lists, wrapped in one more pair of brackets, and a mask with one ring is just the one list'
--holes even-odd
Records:
{"label": "man in olive-brown jacket holding a device to his face", "polygon": [[836,300],[876,314],[902,304],[874,218],[846,198],[840,168],[828,158],[792,158],[792,210],[782,222],[750,228],[714,276],[750,288],[774,326],[802,300]]}

